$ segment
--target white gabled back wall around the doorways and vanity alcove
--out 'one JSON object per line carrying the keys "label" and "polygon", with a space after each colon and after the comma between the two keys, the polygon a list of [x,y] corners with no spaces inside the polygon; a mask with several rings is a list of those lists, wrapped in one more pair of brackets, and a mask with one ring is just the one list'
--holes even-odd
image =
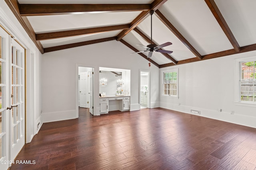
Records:
{"label": "white gabled back wall around the doorways and vanity alcove", "polygon": [[[100,49],[95,50],[95,49]],[[108,41],[44,53],[42,57],[42,117],[44,122],[75,118],[76,64],[94,67],[94,111],[99,114],[99,67],[131,70],[131,110],[139,109],[140,69],[148,61],[118,41]],[[158,68],[151,64],[152,106],[158,107]]]}

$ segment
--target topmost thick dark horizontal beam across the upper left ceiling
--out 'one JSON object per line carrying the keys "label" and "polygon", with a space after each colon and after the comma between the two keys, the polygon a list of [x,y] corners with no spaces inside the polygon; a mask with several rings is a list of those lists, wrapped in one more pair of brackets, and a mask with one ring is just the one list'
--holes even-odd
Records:
{"label": "topmost thick dark horizontal beam across the upper left ceiling", "polygon": [[150,4],[20,4],[21,16],[150,10]]}

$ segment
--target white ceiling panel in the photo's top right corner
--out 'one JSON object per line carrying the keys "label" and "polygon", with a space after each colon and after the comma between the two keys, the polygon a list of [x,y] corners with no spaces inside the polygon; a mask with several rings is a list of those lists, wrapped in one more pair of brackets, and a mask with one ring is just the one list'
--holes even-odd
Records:
{"label": "white ceiling panel in the photo's top right corner", "polygon": [[215,0],[236,41],[242,46],[256,43],[256,0]]}

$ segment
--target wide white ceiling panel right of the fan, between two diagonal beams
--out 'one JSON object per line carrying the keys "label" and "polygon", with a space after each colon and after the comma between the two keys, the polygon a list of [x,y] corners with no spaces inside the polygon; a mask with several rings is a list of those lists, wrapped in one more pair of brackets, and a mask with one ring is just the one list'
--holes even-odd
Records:
{"label": "wide white ceiling panel right of the fan, between two diagonal beams", "polygon": [[233,49],[203,0],[168,0],[159,10],[201,55]]}

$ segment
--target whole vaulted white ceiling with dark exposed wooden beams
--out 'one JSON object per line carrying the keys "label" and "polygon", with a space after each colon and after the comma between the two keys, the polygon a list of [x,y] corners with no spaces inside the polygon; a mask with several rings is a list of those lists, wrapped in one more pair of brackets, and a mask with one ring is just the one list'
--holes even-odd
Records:
{"label": "whole vaulted white ceiling with dark exposed wooden beams", "polygon": [[[159,68],[256,50],[255,0],[5,0],[41,53],[120,41],[152,42]],[[145,59],[148,52],[132,54]]]}

